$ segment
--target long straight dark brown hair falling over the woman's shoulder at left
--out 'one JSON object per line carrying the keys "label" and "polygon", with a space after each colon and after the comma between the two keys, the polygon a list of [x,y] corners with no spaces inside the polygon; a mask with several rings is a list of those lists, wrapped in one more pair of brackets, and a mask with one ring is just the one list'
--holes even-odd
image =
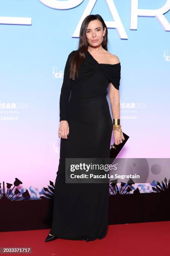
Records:
{"label": "long straight dark brown hair falling over the woman's shoulder at left", "polygon": [[85,55],[87,53],[88,42],[87,42],[87,38],[86,38],[86,29],[91,20],[100,20],[102,23],[103,30],[104,30],[104,28],[106,28],[105,36],[103,37],[103,41],[102,41],[102,47],[107,51],[107,27],[106,27],[106,24],[99,14],[95,14],[95,15],[90,14],[82,22],[82,25],[80,28],[78,49],[77,49],[77,51],[74,52],[74,54],[72,54],[72,58],[70,61],[70,78],[72,78],[72,80],[75,80],[75,77],[78,77],[80,65],[82,64],[83,60],[85,59]]}

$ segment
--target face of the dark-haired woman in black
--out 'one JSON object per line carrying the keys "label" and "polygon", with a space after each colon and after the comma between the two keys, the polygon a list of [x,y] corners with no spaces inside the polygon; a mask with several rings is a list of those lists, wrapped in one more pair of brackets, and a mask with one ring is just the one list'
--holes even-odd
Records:
{"label": "face of the dark-haired woman in black", "polygon": [[102,44],[103,36],[105,35],[106,28],[102,28],[100,20],[92,20],[89,22],[86,30],[86,38],[90,46],[95,47]]}

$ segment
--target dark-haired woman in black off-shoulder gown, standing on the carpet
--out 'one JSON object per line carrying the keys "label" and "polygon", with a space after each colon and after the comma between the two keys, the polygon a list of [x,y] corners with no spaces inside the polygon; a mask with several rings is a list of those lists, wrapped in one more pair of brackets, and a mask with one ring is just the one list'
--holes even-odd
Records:
{"label": "dark-haired woman in black off-shoulder gown, standing on the carpet", "polygon": [[[113,123],[106,98],[109,83]],[[88,15],[80,28],[78,50],[69,54],[65,65],[60,161],[46,242],[57,238],[93,241],[107,233],[109,183],[66,183],[65,159],[109,158],[112,130],[116,145],[125,139],[119,123],[119,85],[120,61],[107,51],[105,22],[100,15]]]}

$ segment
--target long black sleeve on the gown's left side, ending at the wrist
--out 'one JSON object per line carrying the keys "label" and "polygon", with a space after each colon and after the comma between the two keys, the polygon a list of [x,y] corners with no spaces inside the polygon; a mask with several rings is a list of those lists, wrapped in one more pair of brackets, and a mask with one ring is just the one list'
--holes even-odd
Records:
{"label": "long black sleeve on the gown's left side, ending at the wrist", "polygon": [[61,87],[60,93],[60,121],[67,120],[67,107],[68,107],[68,100],[70,98],[71,92],[71,84],[72,79],[69,78],[70,74],[70,57],[74,51],[72,51],[67,58],[65,69],[64,69],[64,77],[63,83]]}

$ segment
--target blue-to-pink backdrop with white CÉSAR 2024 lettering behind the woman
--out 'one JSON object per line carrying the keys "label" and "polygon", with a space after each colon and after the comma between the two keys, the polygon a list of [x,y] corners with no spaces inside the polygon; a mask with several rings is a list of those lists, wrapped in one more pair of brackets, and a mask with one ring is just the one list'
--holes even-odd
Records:
{"label": "blue-to-pink backdrop with white C\u00c9SAR 2024 lettering behind the woman", "polygon": [[[55,183],[65,63],[89,14],[105,20],[108,51],[121,62],[120,121],[130,138],[117,158],[144,164],[153,181],[163,171],[157,159],[170,156],[170,0],[1,0],[1,192],[17,188],[18,197],[27,191],[40,199]],[[147,177],[134,186],[152,191]]]}

